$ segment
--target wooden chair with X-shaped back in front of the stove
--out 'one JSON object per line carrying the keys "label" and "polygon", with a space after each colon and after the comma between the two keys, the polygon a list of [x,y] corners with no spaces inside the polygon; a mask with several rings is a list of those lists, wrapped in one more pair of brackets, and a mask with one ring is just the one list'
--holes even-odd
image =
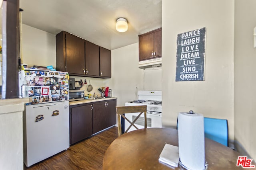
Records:
{"label": "wooden chair with X-shaped back in front of the stove", "polygon": [[[121,117],[120,115],[127,120],[130,123],[130,126],[126,129],[126,131],[124,133],[127,133],[128,130],[134,126],[136,129],[138,129],[138,127],[136,127],[136,125],[134,125],[134,123],[136,122],[136,120],[140,117],[140,115],[144,112],[144,128],[147,128],[147,106],[143,105],[143,106],[116,106],[116,114],[117,114],[117,118],[118,118],[118,136],[122,135],[122,130],[121,130]],[[129,114],[129,113],[140,113],[136,119],[134,119],[133,122],[131,122],[129,119],[127,119],[125,117],[124,114]]]}

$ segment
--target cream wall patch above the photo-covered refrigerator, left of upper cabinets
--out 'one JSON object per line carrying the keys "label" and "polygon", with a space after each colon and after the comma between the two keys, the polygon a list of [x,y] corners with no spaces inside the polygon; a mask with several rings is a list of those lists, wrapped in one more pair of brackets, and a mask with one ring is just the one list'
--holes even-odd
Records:
{"label": "cream wall patch above the photo-covered refrigerator, left of upper cabinets", "polygon": [[22,24],[23,63],[56,68],[55,35]]}

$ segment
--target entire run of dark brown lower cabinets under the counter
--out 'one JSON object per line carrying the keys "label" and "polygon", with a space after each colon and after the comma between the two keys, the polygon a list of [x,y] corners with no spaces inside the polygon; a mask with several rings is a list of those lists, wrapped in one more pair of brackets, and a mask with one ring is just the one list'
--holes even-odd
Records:
{"label": "entire run of dark brown lower cabinets under the counter", "polygon": [[116,99],[70,106],[70,145],[116,124]]}

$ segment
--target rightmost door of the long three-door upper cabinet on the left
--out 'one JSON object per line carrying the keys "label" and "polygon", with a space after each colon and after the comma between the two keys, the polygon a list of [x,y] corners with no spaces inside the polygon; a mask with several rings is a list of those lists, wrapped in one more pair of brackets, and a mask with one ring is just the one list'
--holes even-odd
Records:
{"label": "rightmost door of the long three-door upper cabinet on the left", "polygon": [[111,51],[100,47],[100,76],[111,77]]}

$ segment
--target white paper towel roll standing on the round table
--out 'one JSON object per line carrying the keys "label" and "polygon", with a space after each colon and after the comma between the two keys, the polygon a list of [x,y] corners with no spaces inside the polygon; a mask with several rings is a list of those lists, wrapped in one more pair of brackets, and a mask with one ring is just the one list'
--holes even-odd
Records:
{"label": "white paper towel roll standing on the round table", "polygon": [[205,169],[204,117],[199,113],[178,115],[180,162],[191,170]]}

